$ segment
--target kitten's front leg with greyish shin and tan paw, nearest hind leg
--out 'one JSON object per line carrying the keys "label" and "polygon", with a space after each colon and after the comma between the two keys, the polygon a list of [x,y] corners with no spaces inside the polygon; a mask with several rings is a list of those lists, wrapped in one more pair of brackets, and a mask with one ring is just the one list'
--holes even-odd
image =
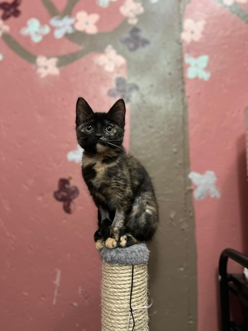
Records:
{"label": "kitten's front leg with greyish shin and tan paw, nearest hind leg", "polygon": [[105,246],[109,249],[116,248],[120,238],[120,230],[123,228],[125,220],[125,212],[116,210],[113,223],[110,229],[110,236],[105,241]]}

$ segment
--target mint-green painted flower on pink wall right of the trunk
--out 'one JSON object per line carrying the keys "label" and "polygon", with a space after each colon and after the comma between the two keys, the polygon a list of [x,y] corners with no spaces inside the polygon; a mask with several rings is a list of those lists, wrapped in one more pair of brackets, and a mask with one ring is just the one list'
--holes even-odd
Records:
{"label": "mint-green painted flower on pink wall right of the trunk", "polygon": [[193,58],[188,54],[185,54],[185,63],[189,65],[187,70],[187,77],[190,79],[198,77],[199,79],[209,80],[211,73],[204,70],[208,65],[208,60],[208,55],[202,55],[198,58]]}

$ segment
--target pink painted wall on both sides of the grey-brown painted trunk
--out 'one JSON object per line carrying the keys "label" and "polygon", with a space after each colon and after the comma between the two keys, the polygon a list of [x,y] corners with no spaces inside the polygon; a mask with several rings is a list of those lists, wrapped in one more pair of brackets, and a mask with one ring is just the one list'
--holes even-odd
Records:
{"label": "pink painted wall on both sides of the grey-brown painted trunk", "polygon": [[[232,2],[236,4],[229,6]],[[199,331],[208,331],[209,327],[218,330],[217,265],[221,251],[232,247],[248,253],[243,114],[247,105],[248,31],[247,23],[238,17],[248,11],[248,1],[242,2],[191,0],[181,35],[189,114],[189,177],[194,186]],[[66,1],[53,3],[62,11]],[[125,19],[129,31],[144,11],[132,0],[70,3],[75,4],[71,17],[80,11],[99,15],[89,17],[86,35],[111,31]],[[103,8],[104,3],[108,7]],[[120,10],[125,3],[129,8]],[[155,5],[158,1],[146,3]],[[19,6],[21,14],[17,18],[0,21],[0,68],[4,77],[0,121],[0,307],[4,331],[100,329],[101,262],[93,242],[96,221],[92,221],[96,219],[96,208],[81,177],[81,151],[77,150],[74,130],[75,101],[83,96],[94,110],[108,110],[120,97],[110,97],[109,90],[115,88],[117,77],[128,79],[128,63],[112,49],[83,55],[80,40],[56,38],[55,27],[49,23],[54,16],[48,13],[54,12],[51,4],[48,0],[26,0]],[[130,16],[130,9],[135,17]],[[22,30],[30,18],[39,19],[43,26],[43,32],[38,31],[41,40],[30,26],[28,31]],[[79,24],[77,28],[84,26]],[[85,48],[90,49],[92,40]],[[106,45],[115,41],[110,36]],[[144,41],[153,47],[152,40]],[[77,54],[74,62],[74,55],[61,57],[69,53]],[[55,59],[49,62],[39,56]],[[114,66],[109,61],[107,66],[104,64],[109,57]],[[126,147],[129,120],[128,106]],[[69,176],[79,195],[65,208],[71,213],[65,213],[62,202],[53,194],[58,181]]]}

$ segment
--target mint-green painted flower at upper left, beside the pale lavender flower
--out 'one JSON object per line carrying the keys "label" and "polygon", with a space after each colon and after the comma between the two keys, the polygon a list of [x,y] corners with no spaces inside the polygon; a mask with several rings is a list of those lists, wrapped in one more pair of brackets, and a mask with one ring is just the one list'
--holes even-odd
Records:
{"label": "mint-green painted flower at upper left, beside the pale lavender flower", "polygon": [[22,27],[20,33],[23,36],[30,36],[31,40],[35,43],[40,42],[43,36],[50,32],[50,27],[47,24],[41,25],[40,21],[31,18],[27,21],[27,27]]}

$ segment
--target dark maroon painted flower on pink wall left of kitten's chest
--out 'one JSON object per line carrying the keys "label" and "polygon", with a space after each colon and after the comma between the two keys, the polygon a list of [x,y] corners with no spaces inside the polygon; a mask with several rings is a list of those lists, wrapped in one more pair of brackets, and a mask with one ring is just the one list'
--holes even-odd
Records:
{"label": "dark maroon painted flower on pink wall left of kitten's chest", "polygon": [[61,178],[59,180],[59,189],[54,192],[54,198],[63,203],[63,209],[66,213],[72,213],[73,200],[79,195],[79,190],[76,186],[70,186],[69,179]]}

